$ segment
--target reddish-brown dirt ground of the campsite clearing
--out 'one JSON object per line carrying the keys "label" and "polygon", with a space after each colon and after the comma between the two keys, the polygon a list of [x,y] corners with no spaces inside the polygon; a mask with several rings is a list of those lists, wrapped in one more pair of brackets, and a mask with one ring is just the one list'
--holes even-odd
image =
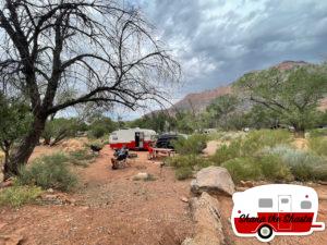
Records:
{"label": "reddish-brown dirt ground of the campsite clearing", "polygon": [[[55,149],[61,150],[61,149]],[[34,157],[53,152],[37,147]],[[1,235],[23,237],[22,244],[39,245],[174,245],[193,234],[187,203],[190,180],[177,181],[173,170],[147,160],[137,152],[131,167],[111,170],[112,150],[104,148],[88,168],[78,169],[81,186],[69,194],[74,205],[28,205],[20,209],[0,209]],[[155,181],[134,181],[138,172],[152,173]],[[315,187],[327,196],[327,186]],[[219,197],[223,229],[229,245],[262,244],[256,238],[239,238],[232,233],[232,200]],[[327,222],[327,200],[319,204],[318,221]],[[1,240],[0,240],[1,241]],[[310,236],[276,236],[271,245],[325,245],[327,232]],[[0,242],[0,245],[1,242]],[[205,245],[205,244],[204,244]]]}

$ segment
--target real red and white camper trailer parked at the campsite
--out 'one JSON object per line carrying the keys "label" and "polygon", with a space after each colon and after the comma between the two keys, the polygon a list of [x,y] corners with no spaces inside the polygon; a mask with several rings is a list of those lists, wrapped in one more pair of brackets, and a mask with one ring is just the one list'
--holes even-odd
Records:
{"label": "real red and white camper trailer parked at the campsite", "polygon": [[129,149],[148,150],[155,139],[155,131],[136,127],[112,132],[109,136],[109,145],[112,149],[120,149],[126,146]]}

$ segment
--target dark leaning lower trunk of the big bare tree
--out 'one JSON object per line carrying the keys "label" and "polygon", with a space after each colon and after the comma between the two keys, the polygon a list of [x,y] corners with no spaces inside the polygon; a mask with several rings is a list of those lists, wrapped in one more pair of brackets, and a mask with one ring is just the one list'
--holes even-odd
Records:
{"label": "dark leaning lower trunk of the big bare tree", "polygon": [[8,168],[4,172],[5,175],[17,175],[20,167],[28,161],[35,146],[39,143],[39,138],[45,128],[46,121],[46,115],[38,115],[34,118],[34,122],[31,125],[29,132],[27,133],[26,137],[20,143],[12,157],[10,158]]}

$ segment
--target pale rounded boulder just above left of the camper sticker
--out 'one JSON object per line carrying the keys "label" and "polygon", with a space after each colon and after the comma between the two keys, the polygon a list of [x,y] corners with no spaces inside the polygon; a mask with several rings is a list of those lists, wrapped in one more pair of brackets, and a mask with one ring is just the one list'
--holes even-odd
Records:
{"label": "pale rounded boulder just above left of the camper sticker", "polygon": [[202,194],[225,194],[231,196],[235,191],[234,183],[227,171],[221,167],[208,167],[196,173],[196,179],[191,182],[191,192]]}

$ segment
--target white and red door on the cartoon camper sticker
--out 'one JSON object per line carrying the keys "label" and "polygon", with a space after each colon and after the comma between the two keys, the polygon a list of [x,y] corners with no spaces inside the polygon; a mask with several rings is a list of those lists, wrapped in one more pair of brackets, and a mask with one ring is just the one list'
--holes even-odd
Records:
{"label": "white and red door on the cartoon camper sticker", "polygon": [[278,196],[278,229],[279,230],[291,230],[292,222],[284,222],[284,217],[292,212],[292,198],[290,195]]}

